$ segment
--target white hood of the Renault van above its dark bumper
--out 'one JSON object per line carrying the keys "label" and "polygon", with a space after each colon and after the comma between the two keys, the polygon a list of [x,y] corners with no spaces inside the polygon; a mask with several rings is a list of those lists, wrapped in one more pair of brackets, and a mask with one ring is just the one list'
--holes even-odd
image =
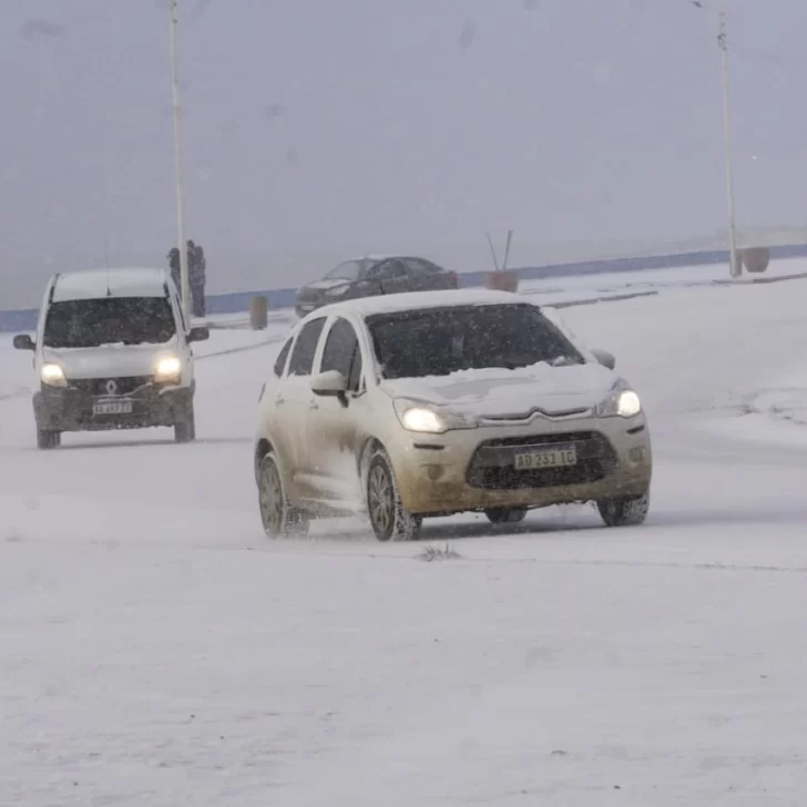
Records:
{"label": "white hood of the Renault van above its dark bumper", "polygon": [[160,345],[45,347],[42,358],[59,365],[68,378],[125,378],[153,375],[156,360],[165,354],[176,354],[176,338]]}

